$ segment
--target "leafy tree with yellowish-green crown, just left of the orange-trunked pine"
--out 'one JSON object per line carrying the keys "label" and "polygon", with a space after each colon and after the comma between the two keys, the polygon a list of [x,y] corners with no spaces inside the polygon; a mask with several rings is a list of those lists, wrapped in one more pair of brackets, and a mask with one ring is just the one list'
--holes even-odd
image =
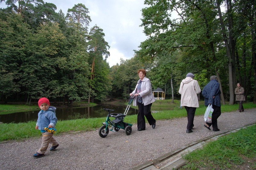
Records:
{"label": "leafy tree with yellowish-green crown, just left of the orange-trunked pine", "polygon": [[90,66],[86,51],[87,32],[78,28],[74,22],[68,22],[65,27],[67,44],[59,52],[57,59],[59,70],[54,79],[59,80],[60,96],[67,98],[72,104],[75,100],[88,97]]}

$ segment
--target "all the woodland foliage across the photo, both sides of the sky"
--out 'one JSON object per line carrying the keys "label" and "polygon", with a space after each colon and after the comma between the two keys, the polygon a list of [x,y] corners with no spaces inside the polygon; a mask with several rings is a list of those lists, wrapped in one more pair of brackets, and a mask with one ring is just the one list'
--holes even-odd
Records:
{"label": "all the woodland foliage across the photo, both sides of the sky", "polygon": [[140,68],[168,98],[172,87],[173,98],[180,98],[180,82],[192,72],[201,89],[216,75],[223,103],[234,102],[236,82],[242,82],[246,99],[256,102],[255,1],[145,0],[140,26],[147,39],[131,59],[112,68],[105,34],[97,25],[88,31],[92,20],[84,4],[75,4],[65,17],[43,0],[5,2],[8,7],[0,10],[5,102],[30,103],[42,96],[70,104],[127,99]]}

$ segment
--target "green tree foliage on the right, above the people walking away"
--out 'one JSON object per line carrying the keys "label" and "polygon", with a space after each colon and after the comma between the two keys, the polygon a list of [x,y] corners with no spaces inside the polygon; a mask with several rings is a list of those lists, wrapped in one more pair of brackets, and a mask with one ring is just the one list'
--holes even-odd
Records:
{"label": "green tree foliage on the right, above the people walking away", "polygon": [[[144,33],[148,38],[141,42],[140,50],[135,52],[141,61],[149,60],[155,64],[151,69],[154,72],[152,74],[155,75],[154,85],[163,87],[170,79],[170,76],[168,78],[164,75],[167,72],[172,73],[176,92],[179,88],[178,84],[188,72],[197,75],[202,88],[206,78],[216,75],[220,85],[223,85],[221,88],[223,99],[225,97],[233,103],[232,89],[237,79],[243,80],[244,84],[250,82],[252,67],[248,72],[249,68],[245,61],[253,63],[255,58],[255,53],[251,49],[254,48],[251,38],[254,39],[252,36],[255,29],[252,28],[252,32],[246,31],[251,26],[245,23],[250,22],[255,25],[255,17],[254,19],[251,17],[255,2],[243,0],[218,2],[229,5],[225,11],[222,11],[223,23],[218,13],[218,5],[216,6],[214,1],[144,1],[148,7],[142,9],[141,26],[144,27]],[[245,13],[248,13],[248,18],[241,17]],[[227,30],[221,31],[220,24]],[[225,37],[228,37],[228,43]],[[243,43],[236,43],[240,38],[243,39],[241,41]],[[239,61],[243,62],[243,65]],[[253,68],[256,68],[255,65]],[[237,71],[234,71],[235,69]],[[254,88],[255,77],[252,81]],[[254,92],[248,84],[246,89],[248,92]]]}

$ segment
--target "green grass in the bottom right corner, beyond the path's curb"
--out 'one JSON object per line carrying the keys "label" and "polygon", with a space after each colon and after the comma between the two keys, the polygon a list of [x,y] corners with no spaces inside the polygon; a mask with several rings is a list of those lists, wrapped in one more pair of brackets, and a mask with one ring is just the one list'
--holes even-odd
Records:
{"label": "green grass in the bottom right corner, beyond the path's curb", "polygon": [[183,156],[180,169],[256,169],[256,125],[220,137]]}

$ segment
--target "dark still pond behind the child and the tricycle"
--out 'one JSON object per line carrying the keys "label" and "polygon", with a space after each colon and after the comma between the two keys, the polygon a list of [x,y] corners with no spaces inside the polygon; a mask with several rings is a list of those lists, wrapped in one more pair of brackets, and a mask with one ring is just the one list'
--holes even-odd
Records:
{"label": "dark still pond behind the child and the tricycle", "polygon": [[[108,112],[103,108],[109,108],[115,110],[110,113],[124,113],[127,106],[125,105],[98,105],[93,107],[61,107],[56,109],[56,116],[58,120],[71,120],[80,118],[93,118],[93,117],[107,117]],[[37,114],[39,109],[36,111],[19,112],[7,115],[0,115],[0,122],[3,123],[19,123],[28,121],[37,121]],[[138,114],[138,110],[131,108],[127,115]]]}

